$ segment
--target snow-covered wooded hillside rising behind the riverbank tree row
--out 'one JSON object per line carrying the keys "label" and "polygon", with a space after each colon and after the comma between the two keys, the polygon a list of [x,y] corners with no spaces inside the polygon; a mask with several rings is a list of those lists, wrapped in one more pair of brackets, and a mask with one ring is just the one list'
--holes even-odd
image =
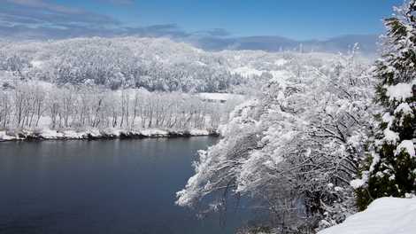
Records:
{"label": "snow-covered wooded hillside rising behind the riverbank tree row", "polygon": [[[77,38],[0,43],[0,71],[58,84],[94,83],[112,89],[225,92],[268,71],[336,58],[325,53],[210,52],[164,38]],[[250,79],[249,79],[250,78]],[[261,79],[265,81],[264,77]],[[1,82],[1,78],[0,78]],[[240,90],[241,91],[241,90]]]}

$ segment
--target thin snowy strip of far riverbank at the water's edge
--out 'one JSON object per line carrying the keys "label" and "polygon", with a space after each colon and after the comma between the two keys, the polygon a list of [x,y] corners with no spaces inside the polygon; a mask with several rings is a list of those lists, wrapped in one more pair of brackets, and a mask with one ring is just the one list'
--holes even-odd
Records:
{"label": "thin snowy strip of far riverbank at the water's edge", "polygon": [[206,129],[88,129],[76,131],[67,130],[0,130],[0,142],[25,140],[98,140],[98,139],[139,139],[146,137],[190,137],[190,136],[219,136],[215,130]]}

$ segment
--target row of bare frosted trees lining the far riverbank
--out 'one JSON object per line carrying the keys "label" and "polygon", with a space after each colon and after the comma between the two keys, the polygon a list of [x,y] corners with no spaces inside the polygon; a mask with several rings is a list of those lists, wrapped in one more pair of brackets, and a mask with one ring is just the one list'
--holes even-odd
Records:
{"label": "row of bare frosted trees lining the far riverbank", "polygon": [[0,90],[0,128],[217,129],[234,105],[179,92],[17,82]]}

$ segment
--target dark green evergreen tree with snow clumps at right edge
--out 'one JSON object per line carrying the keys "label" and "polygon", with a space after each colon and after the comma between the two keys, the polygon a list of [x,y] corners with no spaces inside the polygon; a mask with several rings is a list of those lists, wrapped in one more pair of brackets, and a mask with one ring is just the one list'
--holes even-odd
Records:
{"label": "dark green evergreen tree with snow clumps at right edge", "polygon": [[416,0],[385,20],[384,51],[374,75],[382,112],[357,188],[358,207],[381,197],[412,196],[416,191]]}

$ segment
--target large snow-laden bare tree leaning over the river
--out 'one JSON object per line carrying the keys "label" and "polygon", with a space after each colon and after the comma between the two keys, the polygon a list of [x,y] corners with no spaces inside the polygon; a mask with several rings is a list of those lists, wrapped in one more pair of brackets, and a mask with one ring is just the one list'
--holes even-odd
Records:
{"label": "large snow-laden bare tree leaning over the river", "polygon": [[373,82],[355,51],[320,59],[288,64],[235,109],[224,138],[200,152],[178,205],[219,210],[221,194],[245,196],[271,213],[271,225],[295,232],[354,211],[349,182],[365,152]]}

